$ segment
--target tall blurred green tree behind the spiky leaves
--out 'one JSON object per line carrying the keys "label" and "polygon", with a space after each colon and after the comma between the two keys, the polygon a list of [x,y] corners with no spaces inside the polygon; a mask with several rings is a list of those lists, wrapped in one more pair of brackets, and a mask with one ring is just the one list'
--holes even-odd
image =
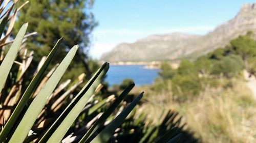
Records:
{"label": "tall blurred green tree behind the spiky leaves", "polygon": [[[26,0],[20,0],[21,5]],[[70,69],[70,77],[77,76],[80,72],[86,72],[90,77],[88,66],[88,47],[90,34],[97,22],[94,20],[90,8],[93,6],[91,0],[31,0],[30,4],[22,9],[14,25],[14,35],[24,22],[29,22],[27,32],[37,32],[37,36],[28,38],[26,44],[30,50],[34,50],[39,62],[41,56],[47,55],[56,41],[63,37],[61,48],[55,57],[59,63],[67,51],[75,44],[79,44],[77,52]]]}

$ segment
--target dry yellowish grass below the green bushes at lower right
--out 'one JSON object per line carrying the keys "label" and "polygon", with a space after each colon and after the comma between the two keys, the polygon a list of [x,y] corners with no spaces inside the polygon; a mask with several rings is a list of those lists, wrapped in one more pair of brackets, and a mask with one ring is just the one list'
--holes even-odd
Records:
{"label": "dry yellowish grass below the green bushes at lower right", "polygon": [[[220,79],[221,80],[221,79]],[[229,88],[206,88],[199,96],[178,103],[170,91],[150,92],[142,106],[149,117],[162,109],[180,112],[189,128],[202,142],[256,142],[256,101],[241,79],[232,79]],[[148,91],[149,89],[145,90]]]}

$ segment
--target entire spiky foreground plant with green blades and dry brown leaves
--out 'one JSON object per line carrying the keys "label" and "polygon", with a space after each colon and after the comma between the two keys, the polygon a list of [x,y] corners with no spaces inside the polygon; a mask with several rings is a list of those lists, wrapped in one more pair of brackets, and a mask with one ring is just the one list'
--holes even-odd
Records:
{"label": "entire spiky foreground plant with green blades and dry brown leaves", "polygon": [[[154,123],[145,113],[132,111],[143,93],[133,98],[130,104],[122,102],[134,83],[119,96],[101,96],[103,85],[100,82],[109,69],[108,63],[104,63],[78,93],[78,85],[86,76],[83,73],[73,81],[68,79],[59,84],[78,49],[75,45],[60,64],[49,70],[62,38],[36,69],[29,70],[33,51],[29,52],[24,42],[35,33],[25,35],[28,23],[20,28],[14,40],[7,41],[17,11],[27,2],[14,12],[11,11],[17,1],[8,10],[4,9],[11,1],[3,2],[0,1],[0,5],[4,4],[0,8],[0,34],[4,35],[0,40],[0,142],[153,143],[177,142],[180,133],[186,135],[176,112],[168,112],[159,123]],[[6,47],[8,52],[4,50]],[[190,136],[182,139],[183,142],[196,142]]]}

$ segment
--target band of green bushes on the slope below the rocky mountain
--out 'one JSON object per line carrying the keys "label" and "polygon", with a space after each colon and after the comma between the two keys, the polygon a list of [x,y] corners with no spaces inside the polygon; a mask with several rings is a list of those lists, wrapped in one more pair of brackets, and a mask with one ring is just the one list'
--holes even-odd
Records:
{"label": "band of green bushes on the slope below the rocky mountain", "polygon": [[172,92],[178,100],[198,95],[206,85],[218,86],[218,78],[230,79],[239,76],[243,69],[255,73],[256,42],[250,32],[230,41],[224,48],[218,48],[195,61],[182,60],[178,69],[168,63],[161,65],[160,78],[156,79],[156,91],[166,89],[172,83]]}

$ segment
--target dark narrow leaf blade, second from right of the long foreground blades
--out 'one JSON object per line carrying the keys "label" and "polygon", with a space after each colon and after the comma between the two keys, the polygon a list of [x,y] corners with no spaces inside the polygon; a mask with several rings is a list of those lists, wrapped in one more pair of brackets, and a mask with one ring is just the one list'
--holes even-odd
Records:
{"label": "dark narrow leaf blade, second from right of the long foreground blades", "polygon": [[82,137],[79,143],[85,142],[87,138],[98,129],[99,125],[103,124],[106,119],[112,114],[112,112],[116,109],[116,107],[121,103],[123,98],[134,88],[135,84],[132,83],[129,85],[120,96],[111,104],[111,106],[100,116],[100,118],[93,124],[93,126],[87,131],[87,133]]}

